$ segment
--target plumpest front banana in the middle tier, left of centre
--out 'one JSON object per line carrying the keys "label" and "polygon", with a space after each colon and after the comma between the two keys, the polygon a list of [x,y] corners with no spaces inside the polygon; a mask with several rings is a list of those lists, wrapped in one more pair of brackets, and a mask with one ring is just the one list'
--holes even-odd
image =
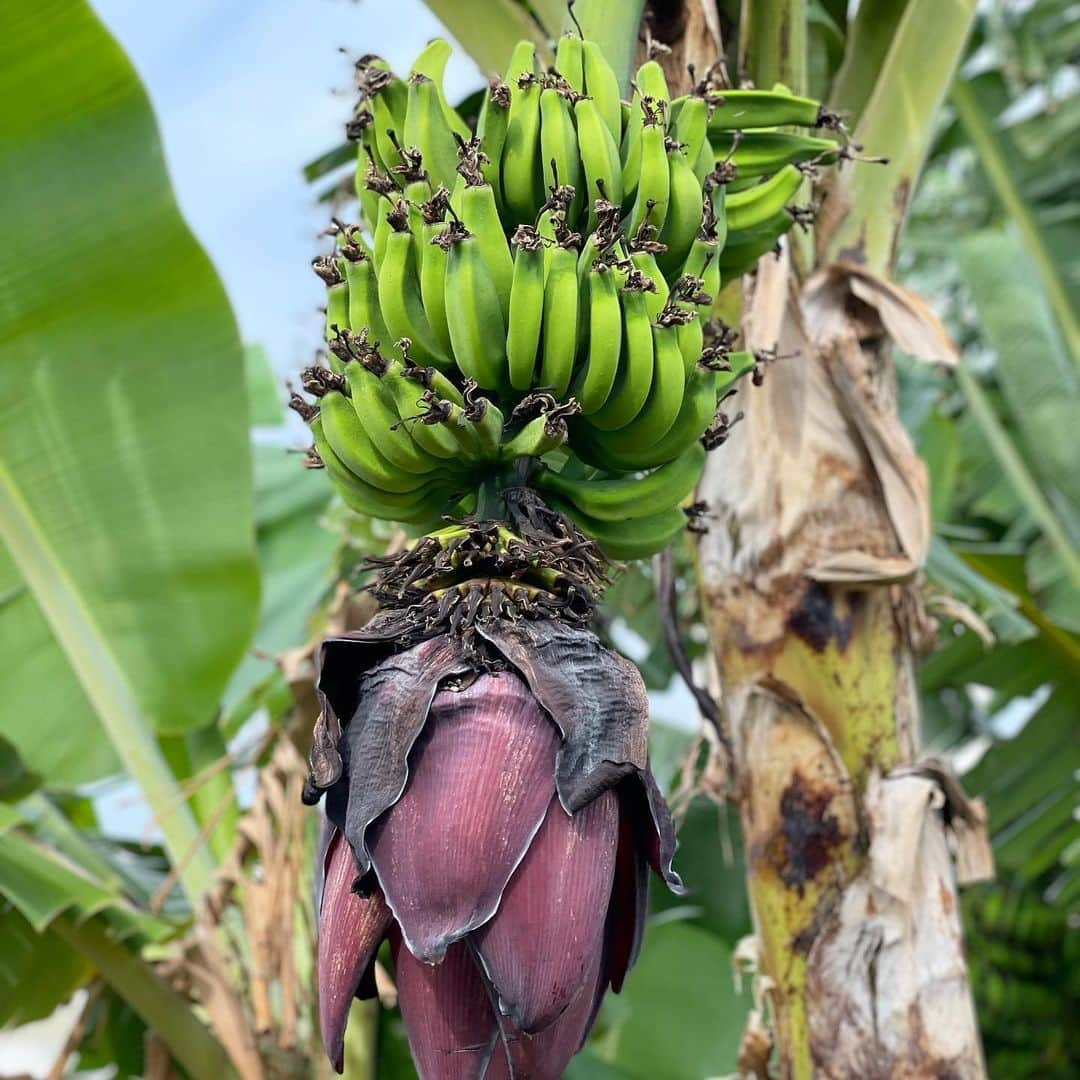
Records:
{"label": "plumpest front banana in the middle tier, left of centre", "polygon": [[[456,228],[457,227],[457,228]],[[462,374],[486,390],[507,379],[507,324],[480,239],[455,222],[448,230],[446,321]]]}

